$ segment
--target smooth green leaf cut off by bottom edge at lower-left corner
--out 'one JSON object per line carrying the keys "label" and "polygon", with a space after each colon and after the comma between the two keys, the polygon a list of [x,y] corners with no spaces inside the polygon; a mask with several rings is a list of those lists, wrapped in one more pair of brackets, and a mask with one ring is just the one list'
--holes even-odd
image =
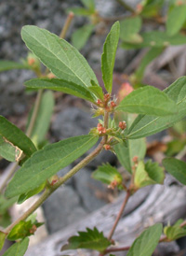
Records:
{"label": "smooth green leaf cut off by bottom edge at lower-left corner", "polygon": [[25,237],[22,241],[13,244],[2,256],[24,256],[29,246],[29,238]]}

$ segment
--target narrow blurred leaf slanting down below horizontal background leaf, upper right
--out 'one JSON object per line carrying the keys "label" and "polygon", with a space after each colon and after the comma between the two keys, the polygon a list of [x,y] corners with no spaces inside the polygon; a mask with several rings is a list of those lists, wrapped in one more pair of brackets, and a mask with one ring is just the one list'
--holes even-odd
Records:
{"label": "narrow blurred leaf slanting down below horizontal background leaf, upper right", "polygon": [[157,56],[159,56],[162,51],[163,48],[153,48],[145,54],[142,61],[140,62],[139,68],[137,68],[135,72],[135,78],[138,82],[141,82],[147,65],[150,64]]}

